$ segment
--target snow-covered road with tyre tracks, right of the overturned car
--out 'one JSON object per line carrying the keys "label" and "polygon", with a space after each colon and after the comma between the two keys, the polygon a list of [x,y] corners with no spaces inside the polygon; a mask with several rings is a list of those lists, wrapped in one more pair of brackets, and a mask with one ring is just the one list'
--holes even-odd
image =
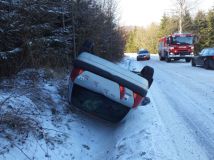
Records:
{"label": "snow-covered road with tyre tracks, right of the overturned car", "polygon": [[140,70],[144,65],[155,69],[149,91],[151,104],[147,106],[153,110],[149,126],[152,159],[213,160],[214,71],[191,67],[184,61],[160,62],[157,56],[130,64],[131,69]]}

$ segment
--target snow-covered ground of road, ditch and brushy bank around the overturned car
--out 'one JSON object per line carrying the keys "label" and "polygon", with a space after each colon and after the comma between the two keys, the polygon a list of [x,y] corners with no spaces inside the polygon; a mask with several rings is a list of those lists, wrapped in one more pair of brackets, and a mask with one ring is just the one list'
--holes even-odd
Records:
{"label": "snow-covered ground of road, ditch and brushy bank around the overturned car", "polygon": [[0,160],[213,160],[214,71],[157,56],[126,57],[120,65],[135,71],[150,65],[155,75],[151,103],[119,124],[70,110],[66,74],[26,70],[2,81],[0,111],[16,111],[32,125],[21,123],[30,128],[21,134],[0,123]]}

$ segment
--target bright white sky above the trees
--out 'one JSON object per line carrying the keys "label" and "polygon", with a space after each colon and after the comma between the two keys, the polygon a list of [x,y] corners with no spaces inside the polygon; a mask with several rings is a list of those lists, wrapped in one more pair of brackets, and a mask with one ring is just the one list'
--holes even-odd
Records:
{"label": "bright white sky above the trees", "polygon": [[[160,22],[164,12],[175,5],[175,0],[118,0],[121,25],[147,27],[152,22]],[[189,0],[194,1],[194,0]],[[208,10],[214,6],[214,0],[198,0],[197,10]]]}

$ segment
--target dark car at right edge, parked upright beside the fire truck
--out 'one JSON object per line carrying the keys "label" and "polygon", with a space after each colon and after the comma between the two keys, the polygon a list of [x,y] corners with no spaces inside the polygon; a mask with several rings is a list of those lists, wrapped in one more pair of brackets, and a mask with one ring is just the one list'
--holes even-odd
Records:
{"label": "dark car at right edge, parked upright beside the fire truck", "polygon": [[204,48],[198,55],[194,56],[192,58],[192,66],[214,69],[214,48]]}

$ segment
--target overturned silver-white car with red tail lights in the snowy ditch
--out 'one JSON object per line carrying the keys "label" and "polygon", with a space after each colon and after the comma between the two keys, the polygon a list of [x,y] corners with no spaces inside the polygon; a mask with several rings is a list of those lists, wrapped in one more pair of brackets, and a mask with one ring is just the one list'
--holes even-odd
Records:
{"label": "overturned silver-white car with red tail lights in the snowy ditch", "polygon": [[[145,70],[143,71],[144,73]],[[87,52],[73,63],[69,78],[72,107],[111,122],[122,120],[131,108],[141,104],[152,83],[120,66]],[[149,77],[149,78],[148,78]]]}

